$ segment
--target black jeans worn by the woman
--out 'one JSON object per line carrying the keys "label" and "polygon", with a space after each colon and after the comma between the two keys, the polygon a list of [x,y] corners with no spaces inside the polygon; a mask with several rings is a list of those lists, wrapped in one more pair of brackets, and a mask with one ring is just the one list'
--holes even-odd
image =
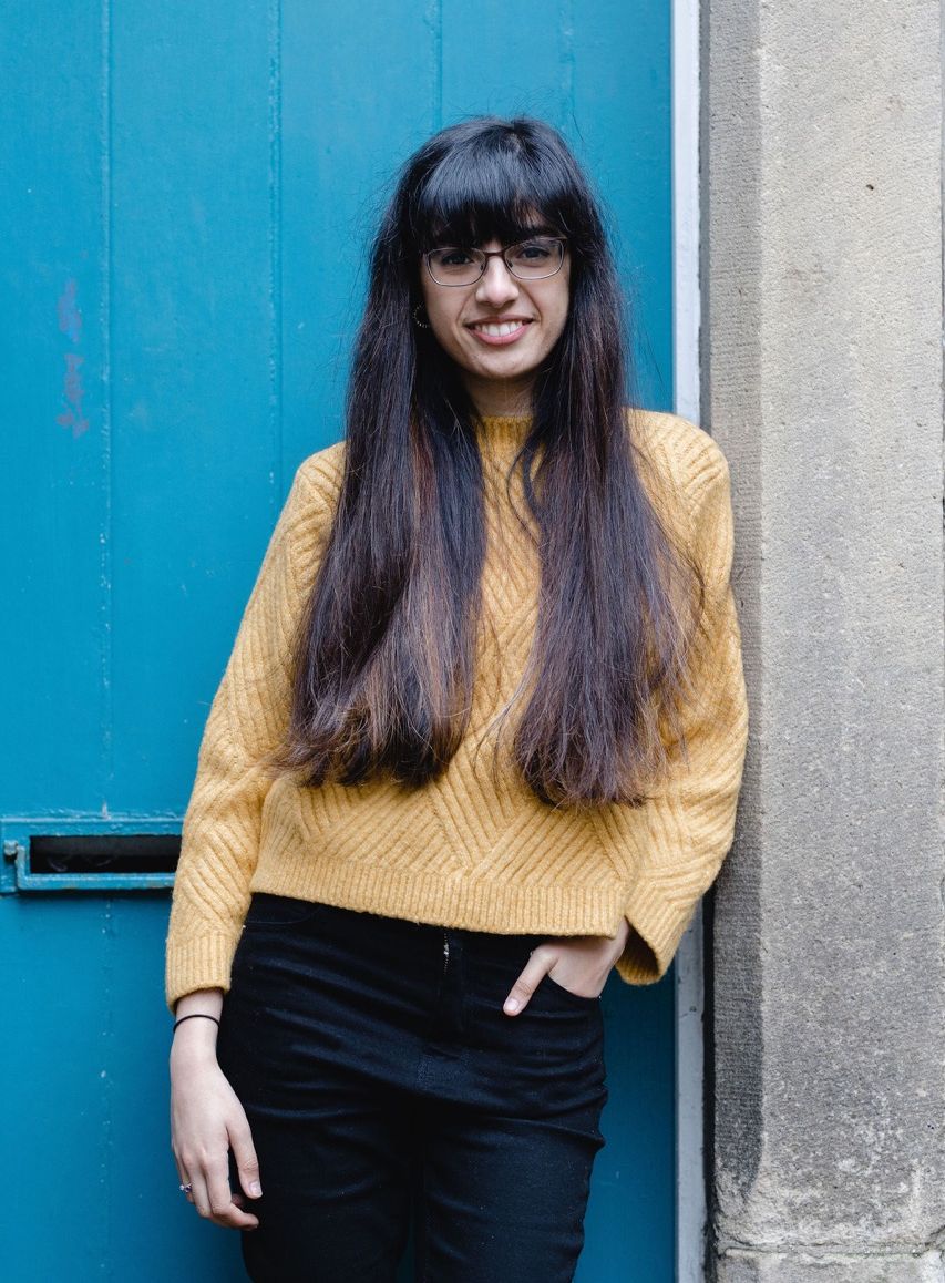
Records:
{"label": "black jeans worn by the woman", "polygon": [[548,976],[501,1010],[545,938],[253,897],[218,1041],[260,1164],[251,1279],[392,1283],[412,1214],[417,1283],[573,1278],[604,1026]]}

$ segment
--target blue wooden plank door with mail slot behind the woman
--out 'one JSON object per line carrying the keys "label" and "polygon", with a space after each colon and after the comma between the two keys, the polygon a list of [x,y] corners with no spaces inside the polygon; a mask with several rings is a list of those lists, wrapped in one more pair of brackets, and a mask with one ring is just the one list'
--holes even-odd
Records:
{"label": "blue wooden plank door with mail slot behind the woman", "polygon": [[[341,435],[365,239],[442,123],[550,119],[613,216],[641,399],[671,408],[669,17],[668,0],[5,6],[6,1278],[242,1277],[169,1152],[168,870],[289,481]],[[604,1011],[578,1279],[668,1283],[672,976],[613,976]]]}

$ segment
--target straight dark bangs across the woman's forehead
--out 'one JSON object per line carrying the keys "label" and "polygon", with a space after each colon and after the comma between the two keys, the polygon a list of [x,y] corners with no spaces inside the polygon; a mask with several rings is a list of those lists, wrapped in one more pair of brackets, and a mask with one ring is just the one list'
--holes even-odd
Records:
{"label": "straight dark bangs across the woman's forehead", "polygon": [[[415,189],[409,210],[415,248],[567,235],[567,189],[555,167],[530,163],[517,140],[500,148],[495,140],[477,141],[442,157]],[[491,146],[483,146],[487,141]]]}

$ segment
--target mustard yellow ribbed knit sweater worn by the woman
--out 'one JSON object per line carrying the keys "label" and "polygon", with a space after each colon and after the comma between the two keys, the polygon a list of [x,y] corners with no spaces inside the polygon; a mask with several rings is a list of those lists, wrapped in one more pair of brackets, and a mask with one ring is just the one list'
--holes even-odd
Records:
{"label": "mustard yellow ribbed knit sweater worn by the woman", "polygon": [[[707,576],[713,645],[687,722],[689,767],[642,807],[578,815],[541,803],[501,756],[495,779],[491,742],[476,754],[515,689],[537,611],[537,552],[504,490],[527,425],[483,425],[482,597],[495,633],[482,633],[459,752],[440,780],[413,792],[389,781],[300,788],[259,769],[287,724],[290,638],[324,549],[345,445],[300,464],[200,745],[167,938],[172,1008],[194,989],[228,988],[254,890],[500,933],[614,937],[624,915],[632,930],[621,978],[648,984],[672,962],[731,847],[748,734],[728,466],[713,439],[678,416],[628,417],[669,497],[665,514]],[[521,482],[512,493],[521,511]]]}

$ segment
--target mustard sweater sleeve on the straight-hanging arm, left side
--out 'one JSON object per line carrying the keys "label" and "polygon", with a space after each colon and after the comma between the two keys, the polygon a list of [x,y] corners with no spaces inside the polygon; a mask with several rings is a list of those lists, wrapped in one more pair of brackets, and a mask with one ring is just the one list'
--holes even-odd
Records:
{"label": "mustard sweater sleeve on the straight-hanging arm, left side", "polygon": [[260,763],[287,726],[294,630],[331,520],[310,473],[310,461],[295,473],[204,727],[165,944],[172,1011],[185,993],[230,988],[272,784]]}

